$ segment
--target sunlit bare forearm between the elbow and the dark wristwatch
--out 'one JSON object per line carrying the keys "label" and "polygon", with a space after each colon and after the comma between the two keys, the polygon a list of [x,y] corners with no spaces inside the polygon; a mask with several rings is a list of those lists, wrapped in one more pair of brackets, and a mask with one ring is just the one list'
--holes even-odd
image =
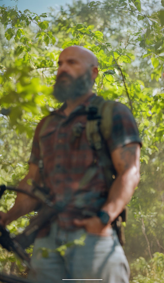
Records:
{"label": "sunlit bare forearm between the elbow and the dark wristwatch", "polygon": [[108,198],[102,209],[110,215],[110,223],[123,211],[125,205],[129,203],[134,189],[139,182],[139,173],[134,170],[118,175],[110,187]]}

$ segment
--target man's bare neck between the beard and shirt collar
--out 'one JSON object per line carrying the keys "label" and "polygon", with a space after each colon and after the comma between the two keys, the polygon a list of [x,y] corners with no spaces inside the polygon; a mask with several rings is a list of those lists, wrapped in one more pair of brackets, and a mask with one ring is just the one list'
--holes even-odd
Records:
{"label": "man's bare neck between the beard and shirt collar", "polygon": [[86,94],[84,94],[83,96],[80,96],[79,98],[77,98],[76,100],[67,100],[67,107],[64,109],[64,114],[66,116],[69,116],[69,114],[80,104],[82,104],[85,100],[87,100],[87,98],[89,98],[89,96],[91,96],[93,94],[93,92],[90,90],[89,92],[87,92]]}

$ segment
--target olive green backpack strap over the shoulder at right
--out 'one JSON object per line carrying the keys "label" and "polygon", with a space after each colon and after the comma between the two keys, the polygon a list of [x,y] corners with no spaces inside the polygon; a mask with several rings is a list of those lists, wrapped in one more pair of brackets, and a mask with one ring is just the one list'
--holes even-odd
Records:
{"label": "olive green backpack strap over the shoulder at right", "polygon": [[[86,136],[89,144],[96,150],[97,156],[99,157],[99,162],[103,168],[104,177],[106,185],[109,188],[112,179],[112,162],[108,156],[105,147],[105,140],[110,137],[111,126],[112,126],[112,109],[114,102],[106,101],[101,96],[96,96],[94,100],[91,101],[88,108],[86,109],[93,111],[93,108],[97,109],[97,113],[90,117],[86,123]],[[103,137],[103,140],[102,140]],[[95,164],[91,165],[85,172],[83,178],[79,182],[79,188],[84,187],[89,183],[89,181],[96,174]]]}

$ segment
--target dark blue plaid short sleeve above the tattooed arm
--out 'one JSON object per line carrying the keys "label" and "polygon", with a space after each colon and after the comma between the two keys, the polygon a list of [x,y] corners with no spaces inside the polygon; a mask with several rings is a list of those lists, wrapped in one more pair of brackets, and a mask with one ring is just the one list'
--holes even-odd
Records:
{"label": "dark blue plaid short sleeve above the tattooed arm", "polygon": [[108,140],[110,152],[117,147],[136,142],[142,145],[136,121],[130,109],[119,102],[113,106],[111,135]]}

